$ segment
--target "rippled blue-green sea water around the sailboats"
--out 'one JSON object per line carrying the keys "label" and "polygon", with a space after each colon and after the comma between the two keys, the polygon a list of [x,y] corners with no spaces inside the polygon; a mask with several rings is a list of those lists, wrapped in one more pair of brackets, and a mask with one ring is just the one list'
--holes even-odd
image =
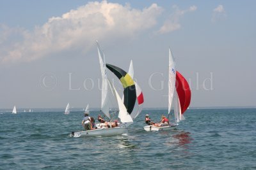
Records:
{"label": "rippled blue-green sea water around the sailboats", "polygon": [[256,109],[188,110],[173,131],[143,130],[163,113],[143,110],[127,136],[70,138],[83,111],[0,111],[0,169],[256,169]]}

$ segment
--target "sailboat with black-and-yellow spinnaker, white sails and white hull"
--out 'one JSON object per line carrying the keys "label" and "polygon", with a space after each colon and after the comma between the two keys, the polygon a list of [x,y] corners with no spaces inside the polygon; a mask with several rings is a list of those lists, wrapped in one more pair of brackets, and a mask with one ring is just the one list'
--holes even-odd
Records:
{"label": "sailboat with black-and-yellow spinnaker, white sails and white hull", "polygon": [[[136,103],[136,89],[134,81],[131,76],[126,73],[120,67],[113,66],[111,64],[106,64],[104,53],[100,49],[99,43],[97,43],[100,71],[102,75],[102,93],[101,93],[101,112],[109,118],[109,120],[114,120],[116,116],[120,120],[118,127],[104,128],[96,125],[97,129],[89,131],[78,131],[71,132],[70,136],[80,137],[80,136],[116,136],[120,134],[127,134],[127,127],[133,123],[131,113]],[[122,82],[124,87],[124,102],[116,91],[114,85],[108,78],[107,68],[109,71],[114,73]],[[117,110],[116,110],[117,108]]]}

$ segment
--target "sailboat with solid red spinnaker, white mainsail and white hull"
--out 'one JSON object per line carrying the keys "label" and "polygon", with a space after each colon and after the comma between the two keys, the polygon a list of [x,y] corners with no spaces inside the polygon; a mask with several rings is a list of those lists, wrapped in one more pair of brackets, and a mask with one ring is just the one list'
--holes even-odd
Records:
{"label": "sailboat with solid red spinnaker, white mainsail and white hull", "polygon": [[172,50],[169,48],[169,81],[168,81],[168,118],[170,117],[171,109],[175,117],[175,124],[168,126],[156,127],[147,125],[145,131],[166,131],[176,127],[178,122],[184,120],[184,112],[188,109],[191,100],[191,90],[188,81],[175,68]]}

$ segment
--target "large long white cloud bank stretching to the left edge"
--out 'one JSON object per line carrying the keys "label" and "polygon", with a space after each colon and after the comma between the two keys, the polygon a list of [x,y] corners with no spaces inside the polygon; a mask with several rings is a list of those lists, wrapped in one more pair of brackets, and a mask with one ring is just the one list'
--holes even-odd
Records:
{"label": "large long white cloud bank stretching to the left edge", "polygon": [[107,1],[90,2],[61,17],[49,18],[31,32],[19,31],[19,41],[12,45],[8,41],[13,29],[0,25],[0,36],[4,37],[0,41],[0,64],[35,60],[71,48],[87,51],[96,39],[134,36],[155,25],[161,11],[157,4],[137,10]]}

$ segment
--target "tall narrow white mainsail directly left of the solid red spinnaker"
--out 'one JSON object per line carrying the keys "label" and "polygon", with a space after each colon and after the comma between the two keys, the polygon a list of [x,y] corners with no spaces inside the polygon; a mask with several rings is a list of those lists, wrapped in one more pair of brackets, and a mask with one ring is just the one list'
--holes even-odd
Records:
{"label": "tall narrow white mainsail directly left of the solid red spinnaker", "polygon": [[168,114],[171,111],[173,95],[175,92],[176,69],[172,50],[169,48],[169,81],[168,81]]}

